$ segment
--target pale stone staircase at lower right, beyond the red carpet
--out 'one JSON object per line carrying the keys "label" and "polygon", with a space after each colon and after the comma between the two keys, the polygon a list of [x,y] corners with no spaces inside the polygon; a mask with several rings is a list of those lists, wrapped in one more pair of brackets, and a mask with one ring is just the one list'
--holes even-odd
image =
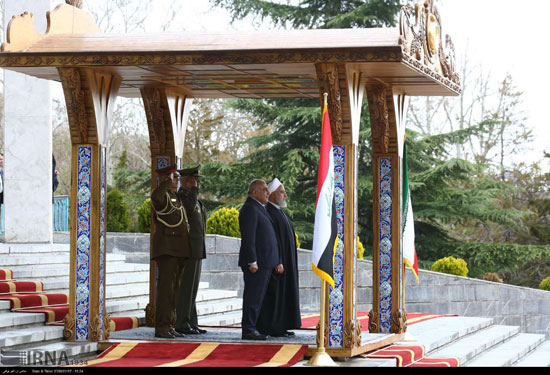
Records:
{"label": "pale stone staircase at lower right, beyond the red carpet", "polygon": [[548,367],[550,341],[521,333],[518,326],[494,324],[492,318],[443,317],[410,325],[408,333],[429,357],[455,357],[461,367]]}

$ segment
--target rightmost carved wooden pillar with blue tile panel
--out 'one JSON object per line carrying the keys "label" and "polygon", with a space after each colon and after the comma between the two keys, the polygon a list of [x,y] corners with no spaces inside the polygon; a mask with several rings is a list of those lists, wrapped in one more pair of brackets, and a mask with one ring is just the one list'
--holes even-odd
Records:
{"label": "rightmost carved wooden pillar with blue tile panel", "polygon": [[[380,83],[367,86],[373,148],[373,308],[371,333],[404,333],[404,269],[401,244],[402,144],[405,96]],[[401,129],[401,130],[400,130]]]}

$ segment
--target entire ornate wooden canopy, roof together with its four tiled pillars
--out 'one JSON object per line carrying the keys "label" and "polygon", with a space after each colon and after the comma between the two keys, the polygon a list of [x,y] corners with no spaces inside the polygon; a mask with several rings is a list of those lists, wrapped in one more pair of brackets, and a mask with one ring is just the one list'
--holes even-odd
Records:
{"label": "entire ornate wooden canopy, roof together with its four tiled pillars", "polygon": [[[80,5],[80,0],[67,0]],[[371,333],[388,345],[406,331],[402,262],[402,156],[407,97],[460,93],[451,39],[442,37],[433,0],[402,8],[399,27],[240,33],[114,35],[99,31],[79,7],[10,21],[0,67],[61,82],[72,141],[70,310],[65,336],[109,337],[105,308],[106,145],[117,96],[141,97],[156,168],[181,163],[188,98],[316,98],[328,94],[335,155],[339,246],[335,287],[322,296],[329,352],[354,356],[365,345],[357,319],[357,174],[363,100],[373,149],[373,292]],[[154,232],[154,225],[151,231]],[[338,272],[337,266],[338,265]],[[149,325],[156,268],[150,268]]]}

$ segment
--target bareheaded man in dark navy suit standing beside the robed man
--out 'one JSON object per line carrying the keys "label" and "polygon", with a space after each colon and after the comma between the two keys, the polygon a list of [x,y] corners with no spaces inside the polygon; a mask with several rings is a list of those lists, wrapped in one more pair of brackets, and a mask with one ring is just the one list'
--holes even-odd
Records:
{"label": "bareheaded man in dark navy suit standing beside the robed man", "polygon": [[279,264],[279,248],[273,223],[264,207],[269,198],[267,184],[254,180],[248,198],[239,212],[241,248],[239,266],[244,276],[243,340],[266,340],[256,329],[256,322],[271,273]]}

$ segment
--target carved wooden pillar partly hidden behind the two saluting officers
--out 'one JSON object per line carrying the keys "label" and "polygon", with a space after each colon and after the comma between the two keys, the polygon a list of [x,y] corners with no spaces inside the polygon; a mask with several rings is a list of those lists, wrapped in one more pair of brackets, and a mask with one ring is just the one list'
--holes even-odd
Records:
{"label": "carved wooden pillar partly hidden behind the two saluting officers", "polygon": [[[181,167],[187,113],[190,105],[185,95],[160,88],[144,88],[141,90],[147,125],[149,127],[149,142],[151,147],[151,191],[158,186],[155,170],[169,165]],[[155,223],[151,212],[151,239]],[[149,270],[149,304],[145,308],[145,320],[149,327],[155,325],[157,266],[154,260],[150,262]]]}

